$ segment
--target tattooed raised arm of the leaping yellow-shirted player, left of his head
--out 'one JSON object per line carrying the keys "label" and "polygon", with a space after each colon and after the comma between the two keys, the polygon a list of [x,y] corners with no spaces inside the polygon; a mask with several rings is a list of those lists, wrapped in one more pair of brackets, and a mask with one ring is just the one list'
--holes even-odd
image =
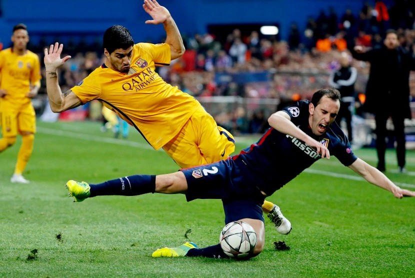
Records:
{"label": "tattooed raised arm of the leaping yellow-shirted player, left of his head", "polygon": [[82,104],[80,99],[71,90],[64,93],[60,90],[57,80],[57,69],[67,61],[70,56],[60,58],[63,44],[51,44],[49,50],[44,49],[44,65],[46,67],[46,92],[49,98],[50,109],[61,112]]}

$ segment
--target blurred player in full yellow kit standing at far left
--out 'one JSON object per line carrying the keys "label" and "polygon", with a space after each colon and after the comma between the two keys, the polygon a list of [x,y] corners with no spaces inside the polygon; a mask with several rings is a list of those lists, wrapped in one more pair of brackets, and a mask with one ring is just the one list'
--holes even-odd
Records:
{"label": "blurred player in full yellow kit standing at far left", "polygon": [[13,145],[17,134],[21,146],[11,182],[28,183],[22,176],[33,150],[36,118],[31,98],[40,88],[40,62],[37,54],[26,49],[29,35],[26,25],[17,24],[11,35],[13,46],[0,51],[0,152]]}

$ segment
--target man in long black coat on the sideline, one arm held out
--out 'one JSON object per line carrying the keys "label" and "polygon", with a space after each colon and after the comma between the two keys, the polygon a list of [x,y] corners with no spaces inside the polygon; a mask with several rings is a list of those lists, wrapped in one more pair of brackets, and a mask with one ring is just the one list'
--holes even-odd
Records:
{"label": "man in long black coat on the sideline, one arm held out", "polygon": [[400,172],[405,171],[404,119],[410,118],[409,72],[415,70],[415,57],[400,46],[397,33],[387,30],[379,49],[363,51],[356,45],[352,50],[355,59],[370,62],[370,73],[366,84],[364,110],[374,114],[377,168],[385,171],[386,121],[392,118],[396,138],[397,164]]}

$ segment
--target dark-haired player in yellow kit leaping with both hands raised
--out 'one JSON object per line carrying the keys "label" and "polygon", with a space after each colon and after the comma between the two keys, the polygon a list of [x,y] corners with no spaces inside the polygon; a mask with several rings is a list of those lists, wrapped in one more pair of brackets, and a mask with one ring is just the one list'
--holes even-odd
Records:
{"label": "dark-haired player in yellow kit leaping with both hands raised", "polygon": [[[155,72],[155,66],[168,65],[184,52],[173,18],[156,0],[144,0],[143,8],[152,17],[145,23],[163,24],[165,42],[134,44],[125,27],[109,27],[103,35],[105,62],[64,93],[57,69],[70,56],[60,58],[63,45],[57,42],[44,49],[50,108],[60,112],[99,99],[134,126],[154,149],[162,147],[182,168],[227,158],[235,148],[232,135],[217,126],[193,96]],[[290,231],[291,224],[278,206],[265,201],[263,210],[279,232]]]}

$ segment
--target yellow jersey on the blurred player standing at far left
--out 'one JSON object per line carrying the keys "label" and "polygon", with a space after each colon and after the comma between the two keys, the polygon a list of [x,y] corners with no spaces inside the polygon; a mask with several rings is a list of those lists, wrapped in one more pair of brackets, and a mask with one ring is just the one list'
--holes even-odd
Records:
{"label": "yellow jersey on the blurred player standing at far left", "polygon": [[31,103],[25,95],[30,91],[30,85],[38,83],[41,78],[37,54],[30,50],[26,50],[23,55],[17,55],[12,48],[1,50],[0,72],[0,87],[7,91],[2,104],[19,107]]}

